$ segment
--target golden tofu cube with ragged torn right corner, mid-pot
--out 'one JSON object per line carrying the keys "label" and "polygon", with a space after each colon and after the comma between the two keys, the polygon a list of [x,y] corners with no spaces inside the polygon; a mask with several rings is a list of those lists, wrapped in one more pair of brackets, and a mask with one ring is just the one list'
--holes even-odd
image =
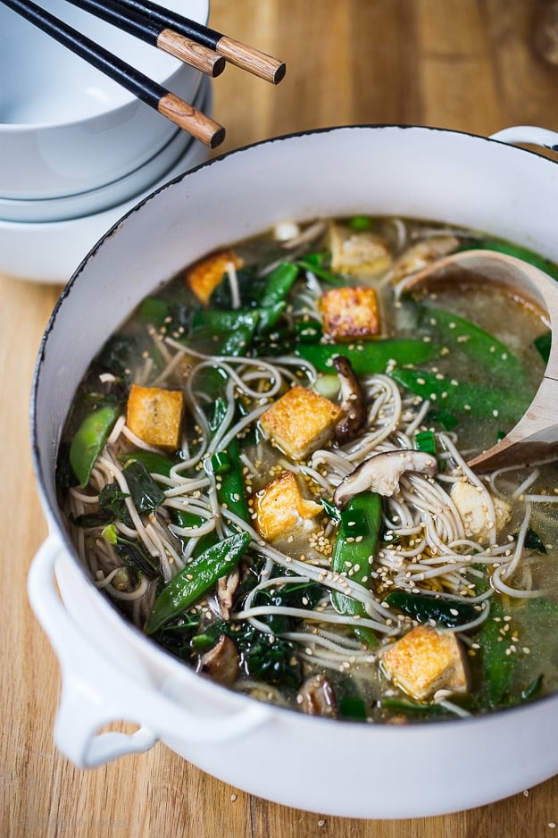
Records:
{"label": "golden tofu cube with ragged torn right corner, mid-pot", "polygon": [[295,475],[285,471],[256,494],[254,512],[258,532],[266,541],[273,541],[298,528],[306,529],[323,507],[305,499]]}

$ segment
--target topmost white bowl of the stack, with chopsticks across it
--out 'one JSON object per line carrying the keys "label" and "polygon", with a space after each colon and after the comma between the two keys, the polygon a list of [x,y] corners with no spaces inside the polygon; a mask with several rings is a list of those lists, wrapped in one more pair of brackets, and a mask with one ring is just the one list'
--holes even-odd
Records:
{"label": "topmost white bowl of the stack, with chopsticks across it", "polygon": [[[43,7],[149,78],[192,101],[202,78],[171,55],[63,0]],[[180,0],[169,0],[180,11]],[[189,0],[205,23],[209,0]],[[0,197],[98,189],[137,170],[176,126],[19,14],[0,4]]]}

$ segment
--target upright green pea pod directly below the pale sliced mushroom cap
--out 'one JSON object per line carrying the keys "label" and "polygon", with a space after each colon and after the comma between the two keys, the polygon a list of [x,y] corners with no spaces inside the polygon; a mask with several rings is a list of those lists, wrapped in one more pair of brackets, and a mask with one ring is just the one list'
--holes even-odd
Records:
{"label": "upright green pea pod directly below the pale sliced mushroom cap", "polygon": [[[366,524],[365,534],[357,538],[348,536],[346,533],[346,524],[350,523],[353,513],[359,519],[363,517]],[[348,579],[362,585],[370,582],[371,560],[378,545],[381,521],[382,505],[379,494],[373,491],[362,491],[358,495],[354,495],[354,498],[347,504],[339,524],[333,556],[331,557],[331,569],[334,573],[346,574]],[[333,591],[331,601],[341,614],[357,617],[368,616],[362,603],[345,593]],[[371,629],[365,626],[355,626],[353,631],[367,645],[371,647],[377,645],[378,640]]]}

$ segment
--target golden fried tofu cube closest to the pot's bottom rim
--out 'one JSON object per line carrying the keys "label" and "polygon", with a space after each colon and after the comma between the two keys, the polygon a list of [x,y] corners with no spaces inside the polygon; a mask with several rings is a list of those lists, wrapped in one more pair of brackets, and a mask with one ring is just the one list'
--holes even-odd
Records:
{"label": "golden fried tofu cube closest to the pot's bottom rim", "polygon": [[382,667],[390,681],[414,699],[429,699],[437,690],[468,690],[463,653],[455,634],[428,625],[417,625],[387,649]]}

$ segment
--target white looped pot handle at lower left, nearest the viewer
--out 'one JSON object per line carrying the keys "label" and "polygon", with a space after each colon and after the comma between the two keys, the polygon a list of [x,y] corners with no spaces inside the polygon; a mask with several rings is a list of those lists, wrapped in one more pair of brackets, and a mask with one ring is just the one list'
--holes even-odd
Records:
{"label": "white looped pot handle at lower left, nearest the viewer", "polygon": [[[28,594],[60,663],[62,690],[54,743],[71,762],[80,768],[101,766],[126,754],[143,753],[163,738],[196,743],[234,740],[270,717],[270,709],[254,701],[233,716],[201,720],[164,692],[119,670],[89,640],[56,590],[54,568],[62,550],[52,535],[38,549],[29,569]],[[138,730],[97,733],[103,725],[124,719],[137,723]]]}

